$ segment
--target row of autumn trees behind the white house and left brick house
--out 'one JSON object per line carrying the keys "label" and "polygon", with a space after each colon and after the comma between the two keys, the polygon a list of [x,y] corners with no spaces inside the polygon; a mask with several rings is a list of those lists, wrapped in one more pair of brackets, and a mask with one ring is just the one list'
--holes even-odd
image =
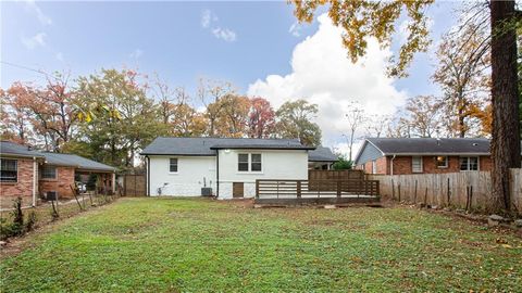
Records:
{"label": "row of autumn trees behind the white house and left brick house", "polygon": [[[190,95],[184,88],[170,88],[158,76],[149,78],[132,69],[101,69],[74,80],[55,75],[42,87],[14,82],[0,91],[1,138],[127,169],[159,136],[297,136],[289,129],[293,122],[279,117],[276,124],[276,112],[268,100],[237,94],[229,82],[203,80],[200,85]],[[203,109],[196,109],[192,97],[200,98]],[[319,128],[311,122],[303,125]]]}

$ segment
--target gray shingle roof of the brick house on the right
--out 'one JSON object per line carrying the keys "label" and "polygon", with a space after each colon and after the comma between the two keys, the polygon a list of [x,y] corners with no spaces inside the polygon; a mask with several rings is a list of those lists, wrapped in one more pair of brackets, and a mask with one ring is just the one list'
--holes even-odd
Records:
{"label": "gray shingle roof of the brick house on the right", "polygon": [[489,154],[484,138],[368,138],[384,154]]}

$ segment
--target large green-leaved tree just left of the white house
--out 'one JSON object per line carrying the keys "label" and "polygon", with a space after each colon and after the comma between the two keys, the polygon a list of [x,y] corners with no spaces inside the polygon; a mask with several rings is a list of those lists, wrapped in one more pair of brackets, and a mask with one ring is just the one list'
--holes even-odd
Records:
{"label": "large green-leaved tree just left of the white house", "polygon": [[94,117],[79,127],[92,157],[121,168],[161,131],[153,101],[133,71],[102,69],[78,78],[78,107]]}

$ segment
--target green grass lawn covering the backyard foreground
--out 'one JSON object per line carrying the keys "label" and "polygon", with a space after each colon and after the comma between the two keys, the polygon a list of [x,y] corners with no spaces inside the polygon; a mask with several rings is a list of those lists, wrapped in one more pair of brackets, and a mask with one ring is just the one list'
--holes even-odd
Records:
{"label": "green grass lawn covering the backyard foreground", "polygon": [[46,230],[2,292],[522,291],[521,239],[417,209],[121,199]]}

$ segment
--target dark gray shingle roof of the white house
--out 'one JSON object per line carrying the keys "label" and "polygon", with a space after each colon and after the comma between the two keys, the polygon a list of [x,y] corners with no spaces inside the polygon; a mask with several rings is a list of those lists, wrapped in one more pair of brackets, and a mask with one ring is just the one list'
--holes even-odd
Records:
{"label": "dark gray shingle roof of the white house", "polygon": [[154,139],[142,155],[215,155],[216,149],[286,149],[313,150],[295,139],[247,138],[164,138]]}

